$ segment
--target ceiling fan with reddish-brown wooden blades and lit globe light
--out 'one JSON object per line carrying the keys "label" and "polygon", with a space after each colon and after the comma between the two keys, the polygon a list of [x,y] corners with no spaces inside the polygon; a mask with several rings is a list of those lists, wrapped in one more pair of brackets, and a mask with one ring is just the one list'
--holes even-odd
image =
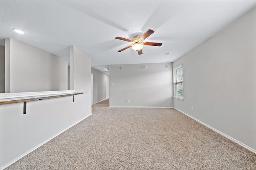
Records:
{"label": "ceiling fan with reddish-brown wooden blades and lit globe light", "polygon": [[129,45],[128,47],[120,49],[118,52],[124,51],[124,50],[132,47],[132,49],[134,49],[135,51],[138,51],[138,54],[140,55],[140,54],[142,54],[143,45],[161,46],[162,43],[143,42],[144,39],[148,38],[154,32],[155,31],[153,31],[152,29],[148,29],[148,31],[146,31],[141,37],[139,35],[136,35],[134,37],[134,39],[132,39],[132,40],[122,38],[122,37],[116,37],[116,39],[120,39],[120,40],[124,40],[124,41],[128,41],[128,42],[132,43],[132,45]]}

